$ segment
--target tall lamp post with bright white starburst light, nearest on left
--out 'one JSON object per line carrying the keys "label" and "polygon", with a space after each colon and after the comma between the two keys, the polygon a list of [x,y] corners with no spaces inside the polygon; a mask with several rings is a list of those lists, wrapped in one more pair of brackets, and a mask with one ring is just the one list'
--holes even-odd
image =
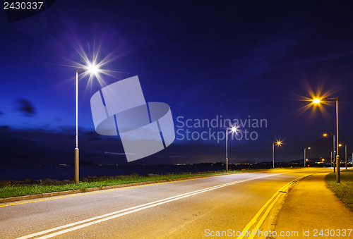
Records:
{"label": "tall lamp post with bright white starburst light, nearest on left", "polygon": [[[85,68],[78,70],[76,69],[76,147],[75,147],[75,183],[78,183],[79,178],[79,162],[78,162],[78,73],[81,71],[87,71],[90,73],[90,78],[92,75],[97,77],[97,74],[100,72],[100,68],[95,65],[95,63],[87,62]],[[87,74],[86,74],[87,75]]]}

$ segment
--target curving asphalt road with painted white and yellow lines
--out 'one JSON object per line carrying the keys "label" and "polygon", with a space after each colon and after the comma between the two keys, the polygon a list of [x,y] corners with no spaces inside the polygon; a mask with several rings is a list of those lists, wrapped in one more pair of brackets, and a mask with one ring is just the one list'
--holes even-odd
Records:
{"label": "curving asphalt road with painted white and yellow lines", "polygon": [[317,171],[237,173],[0,204],[0,238],[210,238],[222,231],[237,238],[265,219],[285,186]]}

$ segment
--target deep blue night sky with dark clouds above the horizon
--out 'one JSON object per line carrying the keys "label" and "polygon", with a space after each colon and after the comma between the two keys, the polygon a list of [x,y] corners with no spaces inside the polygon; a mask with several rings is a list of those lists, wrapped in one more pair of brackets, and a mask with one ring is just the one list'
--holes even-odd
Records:
{"label": "deep blue night sky with dark clouds above the horizon", "polygon": [[[321,135],[335,133],[335,104],[305,107],[313,94],[339,97],[340,142],[352,153],[352,12],[352,1],[63,0],[9,23],[1,10],[0,165],[73,163],[75,63],[98,50],[109,75],[80,79],[80,160],[225,161],[225,139],[187,140],[181,123],[214,118],[251,120],[240,129],[256,139],[229,140],[230,163],[272,161],[279,139],[276,161],[303,159],[304,147],[329,157],[332,137]],[[169,104],[176,140],[127,163],[119,137],[95,133],[90,97],[134,75],[147,102]],[[217,137],[225,126],[189,130]]]}

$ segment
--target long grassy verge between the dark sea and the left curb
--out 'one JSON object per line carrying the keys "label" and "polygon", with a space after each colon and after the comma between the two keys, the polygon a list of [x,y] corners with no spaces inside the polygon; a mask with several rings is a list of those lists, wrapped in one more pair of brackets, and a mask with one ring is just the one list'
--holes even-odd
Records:
{"label": "long grassy verge between the dark sea and the left curb", "polygon": [[[237,173],[237,172],[250,172],[256,171],[255,169],[247,169],[241,171],[229,171],[228,173]],[[0,198],[6,197],[18,197],[25,195],[34,195],[42,194],[48,192],[62,192],[67,190],[85,190],[87,188],[102,188],[104,186],[112,185],[123,185],[129,183],[142,183],[142,182],[155,182],[159,180],[176,180],[179,178],[190,178],[195,176],[207,176],[220,173],[227,173],[225,171],[216,171],[210,173],[181,173],[181,174],[167,174],[162,176],[155,177],[144,177],[144,176],[127,176],[126,178],[114,178],[108,180],[98,180],[95,182],[80,182],[77,185],[74,183],[66,185],[32,185],[28,187],[23,186],[8,186],[0,188]]]}

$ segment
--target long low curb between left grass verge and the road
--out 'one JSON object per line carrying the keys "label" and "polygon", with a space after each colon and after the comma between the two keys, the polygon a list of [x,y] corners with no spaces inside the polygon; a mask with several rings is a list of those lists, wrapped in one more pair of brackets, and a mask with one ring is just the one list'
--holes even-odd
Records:
{"label": "long low curb between left grass verge and the road", "polygon": [[[237,173],[243,173],[243,172],[237,172]],[[215,176],[237,174],[237,173],[220,173],[220,174],[205,175],[205,176],[187,177],[187,178],[174,178],[169,180],[162,179],[162,180],[146,181],[146,182],[140,182],[140,183],[128,183],[128,184],[121,184],[121,185],[103,186],[101,188],[85,188],[85,189],[76,189],[76,190],[68,190],[68,191],[61,191],[61,192],[47,192],[42,194],[25,195],[20,197],[6,197],[6,198],[0,198],[0,203],[16,202],[16,201],[22,201],[22,200],[33,200],[33,199],[42,198],[42,197],[55,197],[55,196],[69,195],[69,194],[75,194],[75,193],[94,192],[94,191],[114,189],[114,188],[127,188],[127,187],[132,187],[137,185],[165,183],[165,182],[172,182],[172,181],[179,181],[179,180],[191,180],[191,179],[197,179],[197,178],[210,178]]]}

